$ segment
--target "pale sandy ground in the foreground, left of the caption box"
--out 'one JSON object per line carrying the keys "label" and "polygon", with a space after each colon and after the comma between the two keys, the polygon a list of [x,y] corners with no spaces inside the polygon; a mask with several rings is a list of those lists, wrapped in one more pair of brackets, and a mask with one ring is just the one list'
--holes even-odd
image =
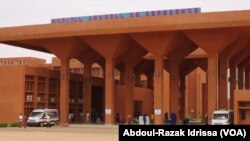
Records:
{"label": "pale sandy ground in the foreground, left of the caption box", "polygon": [[118,126],[0,128],[0,141],[118,141]]}

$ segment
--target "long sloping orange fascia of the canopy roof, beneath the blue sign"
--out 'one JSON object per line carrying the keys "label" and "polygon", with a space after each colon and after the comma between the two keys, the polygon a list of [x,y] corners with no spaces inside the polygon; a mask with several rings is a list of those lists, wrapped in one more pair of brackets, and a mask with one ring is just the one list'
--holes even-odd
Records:
{"label": "long sloping orange fascia of the canopy roof, beneath the blue sign", "polygon": [[0,28],[0,42],[102,34],[246,27],[250,26],[249,15],[250,10],[242,10],[5,27]]}

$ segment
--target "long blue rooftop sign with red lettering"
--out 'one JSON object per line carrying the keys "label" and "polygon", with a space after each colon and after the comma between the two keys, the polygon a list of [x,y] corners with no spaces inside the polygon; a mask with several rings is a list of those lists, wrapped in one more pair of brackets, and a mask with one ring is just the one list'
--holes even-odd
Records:
{"label": "long blue rooftop sign with red lettering", "polygon": [[88,21],[100,21],[100,20],[109,20],[109,19],[139,18],[139,17],[149,17],[149,16],[170,16],[170,15],[179,15],[179,14],[193,14],[193,13],[200,13],[200,12],[201,12],[201,8],[143,11],[143,12],[57,18],[57,19],[51,19],[51,23],[55,24],[55,23],[88,22]]}

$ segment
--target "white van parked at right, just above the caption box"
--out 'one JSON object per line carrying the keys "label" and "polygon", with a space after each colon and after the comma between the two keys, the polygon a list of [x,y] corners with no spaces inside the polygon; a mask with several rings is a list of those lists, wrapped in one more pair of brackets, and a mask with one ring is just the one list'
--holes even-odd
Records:
{"label": "white van parked at right, just above the caption box", "polygon": [[221,109],[214,111],[212,115],[212,125],[232,125],[234,122],[234,113],[232,110]]}

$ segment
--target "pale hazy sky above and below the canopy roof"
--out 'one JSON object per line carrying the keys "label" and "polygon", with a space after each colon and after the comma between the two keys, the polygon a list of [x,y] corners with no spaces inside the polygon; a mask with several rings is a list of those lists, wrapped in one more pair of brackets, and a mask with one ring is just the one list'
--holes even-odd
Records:
{"label": "pale hazy sky above and below the canopy roof", "polygon": [[[201,12],[250,10],[250,0],[0,0],[0,28],[49,24],[52,18],[200,7]],[[0,44],[0,58],[53,54]]]}

